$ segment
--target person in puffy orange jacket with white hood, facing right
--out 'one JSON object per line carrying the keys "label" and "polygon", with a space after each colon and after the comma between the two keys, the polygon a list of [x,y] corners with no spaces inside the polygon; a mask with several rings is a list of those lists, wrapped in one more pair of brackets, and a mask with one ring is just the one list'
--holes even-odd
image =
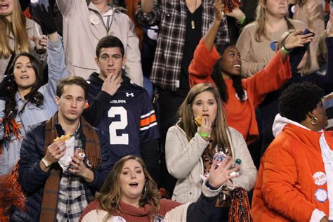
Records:
{"label": "person in puffy orange jacket with white hood, facing right", "polygon": [[324,91],[292,84],[280,97],[254,188],[254,221],[333,220],[333,133],[325,131]]}

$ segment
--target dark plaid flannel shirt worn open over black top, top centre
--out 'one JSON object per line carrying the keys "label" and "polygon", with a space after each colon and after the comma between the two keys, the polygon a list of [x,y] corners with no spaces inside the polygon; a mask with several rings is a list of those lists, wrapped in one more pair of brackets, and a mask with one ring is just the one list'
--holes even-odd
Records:
{"label": "dark plaid flannel shirt worn open over black top, top centre", "polygon": [[[202,36],[214,21],[214,0],[202,0]],[[185,0],[154,0],[150,13],[143,13],[138,2],[136,18],[142,25],[159,25],[159,37],[150,79],[161,89],[176,91],[181,75],[181,60],[186,32]],[[228,42],[226,18],[216,36],[216,44]]]}

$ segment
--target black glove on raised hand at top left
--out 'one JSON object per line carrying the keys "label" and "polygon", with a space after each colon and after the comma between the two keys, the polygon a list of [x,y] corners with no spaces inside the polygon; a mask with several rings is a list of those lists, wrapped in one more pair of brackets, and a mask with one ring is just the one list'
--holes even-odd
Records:
{"label": "black glove on raised hand at top left", "polygon": [[30,5],[34,20],[46,31],[47,34],[52,34],[57,31],[55,20],[52,15],[50,6],[45,8],[44,4]]}

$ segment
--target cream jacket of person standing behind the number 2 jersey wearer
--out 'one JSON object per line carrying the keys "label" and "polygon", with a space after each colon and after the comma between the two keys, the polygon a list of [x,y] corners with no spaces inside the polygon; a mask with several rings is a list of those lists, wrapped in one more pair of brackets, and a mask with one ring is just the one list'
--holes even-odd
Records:
{"label": "cream jacket of person standing behind the number 2 jersey wearer", "polygon": [[114,18],[107,33],[102,15],[94,4],[87,6],[85,0],[56,2],[63,14],[65,60],[71,75],[88,79],[92,72],[100,72],[95,63],[96,46],[101,38],[110,34],[118,37],[124,44],[127,75],[135,84],[143,86],[139,41],[129,16],[113,8]]}

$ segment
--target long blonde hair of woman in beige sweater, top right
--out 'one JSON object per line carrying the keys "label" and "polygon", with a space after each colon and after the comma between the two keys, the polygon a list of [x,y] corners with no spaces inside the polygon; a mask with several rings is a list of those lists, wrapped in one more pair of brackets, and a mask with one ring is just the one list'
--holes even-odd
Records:
{"label": "long blonde hair of woman in beige sweater, top right", "polygon": [[[268,35],[266,32],[265,24],[266,24],[266,3],[267,0],[260,0],[258,6],[256,7],[256,41],[261,42],[262,37],[268,39]],[[287,18],[287,15],[285,15],[285,20],[287,22],[288,30],[293,30],[295,27],[292,25],[292,22],[290,22],[289,18]]]}

